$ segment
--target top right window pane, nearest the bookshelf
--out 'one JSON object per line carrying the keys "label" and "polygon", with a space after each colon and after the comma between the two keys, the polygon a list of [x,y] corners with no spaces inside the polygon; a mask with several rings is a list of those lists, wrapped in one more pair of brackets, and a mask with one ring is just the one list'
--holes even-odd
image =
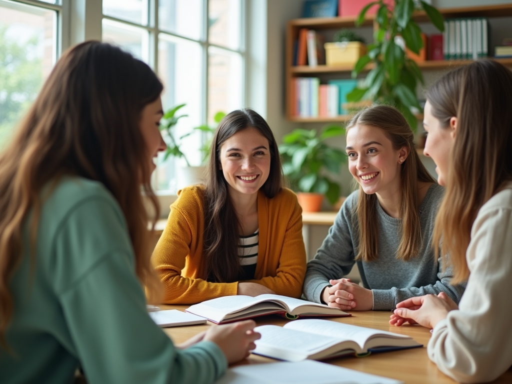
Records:
{"label": "top right window pane, nearest the bookshelf", "polygon": [[209,0],[209,42],[231,49],[240,49],[241,15],[240,0]]}

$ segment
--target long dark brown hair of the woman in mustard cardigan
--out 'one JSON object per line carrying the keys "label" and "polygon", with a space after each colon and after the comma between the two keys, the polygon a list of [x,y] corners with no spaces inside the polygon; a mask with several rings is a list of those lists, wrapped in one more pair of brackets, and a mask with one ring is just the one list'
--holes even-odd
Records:
{"label": "long dark brown hair of the woman in mustard cardigan", "polygon": [[204,233],[204,278],[230,283],[237,281],[241,270],[238,258],[240,222],[229,198],[227,181],[220,169],[220,151],[224,142],[237,132],[254,128],[269,144],[270,172],[262,188],[273,198],[282,188],[281,158],[278,145],[267,122],[251,109],[226,115],[215,132],[208,159]]}

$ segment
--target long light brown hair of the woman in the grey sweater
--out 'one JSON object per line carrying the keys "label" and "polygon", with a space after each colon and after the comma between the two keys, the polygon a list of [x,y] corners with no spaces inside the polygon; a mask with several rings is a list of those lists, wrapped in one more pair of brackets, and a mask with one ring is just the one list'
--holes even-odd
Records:
{"label": "long light brown hair of the woman in the grey sweater", "polygon": [[[401,164],[400,190],[402,205],[400,206],[400,218],[402,238],[396,251],[396,257],[400,260],[414,258],[422,245],[421,226],[419,219],[419,202],[417,197],[418,181],[436,183],[428,170],[421,163],[414,146],[414,134],[411,131],[406,118],[389,105],[373,105],[359,111],[347,125],[347,132],[355,125],[369,125],[382,130],[391,140],[393,148],[399,150],[406,147],[409,155]],[[378,248],[378,222],[376,212],[375,194],[367,195],[359,186],[359,196],[356,205],[358,222],[359,247],[356,260],[377,260]]]}

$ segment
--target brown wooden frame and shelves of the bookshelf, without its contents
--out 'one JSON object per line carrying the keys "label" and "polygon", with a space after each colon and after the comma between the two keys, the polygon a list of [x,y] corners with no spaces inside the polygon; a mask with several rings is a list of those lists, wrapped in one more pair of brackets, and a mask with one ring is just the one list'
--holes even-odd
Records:
{"label": "brown wooden frame and shelves of the bookshelf, without its contents", "polygon": [[[439,9],[444,18],[457,18],[457,17],[512,17],[512,4],[498,4],[488,6],[477,6],[477,7],[459,7],[459,8],[444,8]],[[414,19],[418,23],[429,22],[425,12],[416,12]],[[286,30],[286,118],[293,122],[303,123],[323,123],[323,122],[345,122],[348,116],[336,116],[336,117],[300,117],[294,116],[290,108],[290,102],[288,97],[290,95],[291,81],[294,77],[307,77],[311,75],[322,76],[322,78],[330,78],[334,76],[344,75],[345,77],[350,76],[352,66],[339,66],[339,67],[328,67],[328,66],[293,66],[293,45],[294,41],[298,38],[298,31],[301,28],[308,28],[314,30],[335,30],[340,28],[355,28],[356,17],[330,17],[330,18],[300,18],[289,20]],[[370,15],[365,19],[362,25],[363,27],[372,27],[374,25],[374,16]],[[490,51],[490,49],[489,49]],[[512,58],[500,58],[496,61],[501,62],[503,65],[512,67]],[[471,63],[472,60],[426,60],[418,62],[418,67],[422,71],[435,71],[435,70],[447,70],[463,66]],[[373,68],[372,65],[368,65],[365,70],[369,71]],[[417,115],[418,119],[422,118],[422,115]]]}

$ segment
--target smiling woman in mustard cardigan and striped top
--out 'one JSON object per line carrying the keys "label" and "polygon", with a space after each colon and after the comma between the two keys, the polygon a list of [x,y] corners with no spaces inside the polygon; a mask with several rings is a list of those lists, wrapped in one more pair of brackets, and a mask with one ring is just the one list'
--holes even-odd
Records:
{"label": "smiling woman in mustard cardigan and striped top", "polygon": [[302,209],[282,187],[278,146],[256,112],[219,123],[206,185],[184,188],[153,254],[164,302],[225,295],[300,297],[306,271]]}

